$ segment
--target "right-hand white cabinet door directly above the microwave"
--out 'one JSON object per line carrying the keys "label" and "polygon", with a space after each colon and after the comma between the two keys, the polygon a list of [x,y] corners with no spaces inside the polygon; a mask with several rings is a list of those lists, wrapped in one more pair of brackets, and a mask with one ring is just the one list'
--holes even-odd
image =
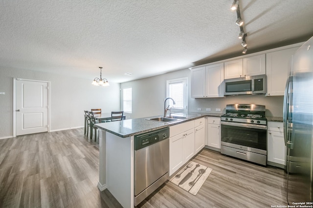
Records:
{"label": "right-hand white cabinet door directly above the microwave", "polygon": [[265,54],[243,58],[243,75],[265,75]]}

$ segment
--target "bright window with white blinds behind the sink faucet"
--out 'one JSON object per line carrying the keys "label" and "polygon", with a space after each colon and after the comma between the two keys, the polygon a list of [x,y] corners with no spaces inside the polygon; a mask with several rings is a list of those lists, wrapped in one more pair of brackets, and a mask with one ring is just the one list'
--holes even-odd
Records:
{"label": "bright window with white blinds behind the sink faucet", "polygon": [[168,100],[168,105],[174,106],[173,109],[187,111],[187,83],[188,77],[171,79],[166,81],[166,97],[172,97],[175,100]]}

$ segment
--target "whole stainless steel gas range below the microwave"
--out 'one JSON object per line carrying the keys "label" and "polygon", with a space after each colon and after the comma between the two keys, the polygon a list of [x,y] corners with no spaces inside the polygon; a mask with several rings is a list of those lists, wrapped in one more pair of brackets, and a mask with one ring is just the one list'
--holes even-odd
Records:
{"label": "whole stainless steel gas range below the microwave", "polygon": [[226,105],[226,114],[221,117],[221,153],[266,165],[265,110],[264,105]]}

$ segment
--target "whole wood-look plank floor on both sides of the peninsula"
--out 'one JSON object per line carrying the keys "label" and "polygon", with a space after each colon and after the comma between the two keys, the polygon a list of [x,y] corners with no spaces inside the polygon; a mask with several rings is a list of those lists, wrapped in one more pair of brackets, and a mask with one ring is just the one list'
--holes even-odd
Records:
{"label": "whole wood-look plank floor on both sides of the peninsula", "polygon": [[[98,144],[84,129],[0,140],[0,207],[120,208],[97,188]],[[212,168],[196,196],[167,181],[138,208],[270,208],[286,205],[284,171],[203,149],[193,161]]]}

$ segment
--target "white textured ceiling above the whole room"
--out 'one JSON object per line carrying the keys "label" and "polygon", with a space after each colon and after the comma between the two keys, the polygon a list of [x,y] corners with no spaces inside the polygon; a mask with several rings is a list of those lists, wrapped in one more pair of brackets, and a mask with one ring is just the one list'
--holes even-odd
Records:
{"label": "white textured ceiling above the whole room", "polygon": [[[1,0],[0,66],[125,82],[241,56],[232,0]],[[248,53],[313,36],[313,0],[240,0]],[[132,73],[133,76],[126,76]]]}

